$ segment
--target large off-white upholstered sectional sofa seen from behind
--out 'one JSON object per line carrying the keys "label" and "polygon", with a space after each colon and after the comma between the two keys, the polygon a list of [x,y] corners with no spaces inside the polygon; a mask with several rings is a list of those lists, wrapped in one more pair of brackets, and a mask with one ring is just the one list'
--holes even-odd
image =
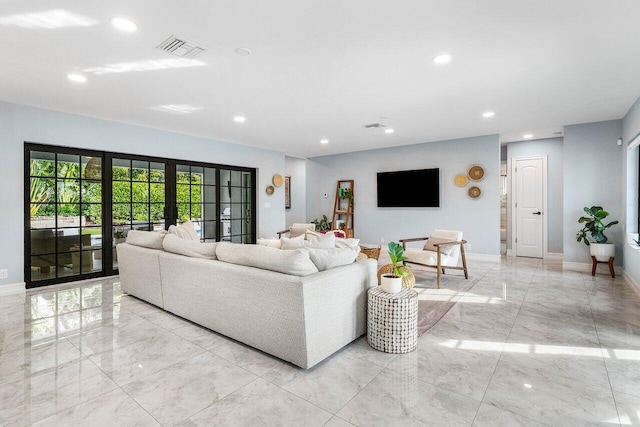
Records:
{"label": "large off-white upholstered sectional sofa seen from behind", "polygon": [[[139,233],[147,234],[142,245],[117,246],[122,289],[164,310],[305,369],[366,332],[374,260],[317,271],[306,260],[300,267],[305,254],[309,259],[307,249],[210,244],[225,262],[167,252],[158,233]],[[270,257],[275,269],[292,268],[293,274],[251,266],[271,268],[265,265]],[[249,265],[241,265],[245,261]]]}

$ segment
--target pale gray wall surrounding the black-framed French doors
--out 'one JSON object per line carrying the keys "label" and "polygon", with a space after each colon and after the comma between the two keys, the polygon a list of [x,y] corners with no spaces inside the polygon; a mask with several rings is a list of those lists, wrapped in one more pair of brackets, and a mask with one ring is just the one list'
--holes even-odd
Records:
{"label": "pale gray wall surrounding the black-framed French doors", "polygon": [[284,191],[264,191],[285,170],[282,153],[0,102],[0,268],[9,269],[0,286],[24,281],[24,141],[255,167],[258,235],[274,235],[285,226]]}

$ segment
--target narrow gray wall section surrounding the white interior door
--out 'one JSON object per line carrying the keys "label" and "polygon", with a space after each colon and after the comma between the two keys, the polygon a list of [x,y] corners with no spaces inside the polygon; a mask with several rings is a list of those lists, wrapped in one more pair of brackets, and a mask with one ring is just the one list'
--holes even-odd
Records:
{"label": "narrow gray wall section surrounding the white interior door", "polygon": [[[514,157],[547,156],[547,221],[548,251],[562,253],[563,240],[563,139],[537,139],[535,141],[512,142],[507,145],[507,185],[511,189],[511,164]],[[511,191],[507,202],[507,248],[511,248]]]}

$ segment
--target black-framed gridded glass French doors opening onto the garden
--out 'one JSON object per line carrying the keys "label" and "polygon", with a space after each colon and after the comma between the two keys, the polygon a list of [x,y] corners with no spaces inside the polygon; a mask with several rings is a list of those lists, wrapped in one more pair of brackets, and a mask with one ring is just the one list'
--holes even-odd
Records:
{"label": "black-framed gridded glass French doors opening onto the garden", "polygon": [[117,274],[130,230],[254,243],[255,188],[253,168],[25,143],[27,287]]}

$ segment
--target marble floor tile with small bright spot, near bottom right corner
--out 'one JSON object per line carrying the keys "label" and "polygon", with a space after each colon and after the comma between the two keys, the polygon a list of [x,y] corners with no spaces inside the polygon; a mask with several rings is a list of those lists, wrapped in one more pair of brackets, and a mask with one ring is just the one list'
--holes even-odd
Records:
{"label": "marble floor tile with small bright spot, near bottom right corner", "polygon": [[611,425],[611,390],[499,362],[483,403],[551,425]]}

